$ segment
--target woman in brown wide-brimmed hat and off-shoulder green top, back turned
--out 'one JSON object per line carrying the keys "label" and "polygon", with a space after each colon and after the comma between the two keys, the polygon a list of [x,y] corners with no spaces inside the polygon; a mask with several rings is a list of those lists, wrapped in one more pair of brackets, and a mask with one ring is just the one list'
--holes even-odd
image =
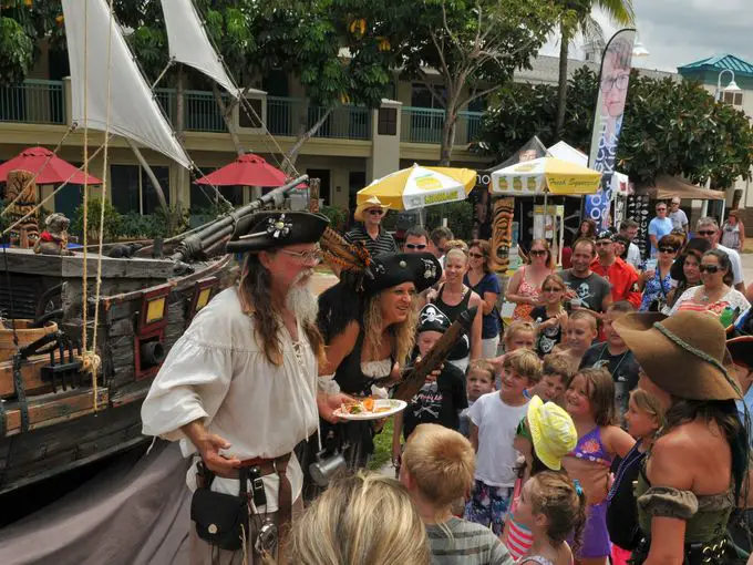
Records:
{"label": "woman in brown wide-brimmed hat and off-shoulder green top, back turned", "polygon": [[724,328],[705,312],[662,318],[613,323],[641,366],[638,386],[668,409],[635,491],[643,540],[631,563],[735,563],[726,527],[745,490],[749,443]]}

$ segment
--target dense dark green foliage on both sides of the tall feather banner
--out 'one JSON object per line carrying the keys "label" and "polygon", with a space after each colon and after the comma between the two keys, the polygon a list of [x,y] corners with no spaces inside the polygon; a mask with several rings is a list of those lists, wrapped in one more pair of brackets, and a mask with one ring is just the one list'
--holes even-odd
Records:
{"label": "dense dark green foliage on both sides of the tall feather banner", "polygon": [[[582,68],[569,82],[561,140],[588,154],[597,78]],[[556,136],[556,86],[510,84],[484,117],[479,147],[498,160],[507,158],[533,135],[546,145]],[[683,175],[695,183],[731,186],[750,178],[753,166],[753,127],[745,114],[714,102],[701,85],[640,76],[630,79],[617,166],[632,181],[658,175]]]}

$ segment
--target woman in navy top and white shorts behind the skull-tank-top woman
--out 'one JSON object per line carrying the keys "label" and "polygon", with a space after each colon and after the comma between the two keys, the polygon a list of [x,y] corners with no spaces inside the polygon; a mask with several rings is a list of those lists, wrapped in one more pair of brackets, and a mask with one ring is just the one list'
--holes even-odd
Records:
{"label": "woman in navy top and white shorts behind the skull-tank-top woman", "polygon": [[499,346],[499,315],[497,297],[499,279],[489,270],[492,246],[485,239],[474,239],[468,246],[468,271],[463,284],[481,297],[484,311],[481,327],[481,355],[483,359],[497,357]]}

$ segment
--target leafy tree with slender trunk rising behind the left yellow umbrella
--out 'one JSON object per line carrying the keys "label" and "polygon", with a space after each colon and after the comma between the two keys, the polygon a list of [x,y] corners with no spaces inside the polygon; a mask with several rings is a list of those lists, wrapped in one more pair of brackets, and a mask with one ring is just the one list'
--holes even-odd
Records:
{"label": "leafy tree with slender trunk rising behind the left yellow umbrella", "polygon": [[546,41],[556,11],[545,0],[333,0],[364,42],[390,45],[402,78],[422,82],[445,110],[440,161],[448,164],[458,112],[512,80]]}

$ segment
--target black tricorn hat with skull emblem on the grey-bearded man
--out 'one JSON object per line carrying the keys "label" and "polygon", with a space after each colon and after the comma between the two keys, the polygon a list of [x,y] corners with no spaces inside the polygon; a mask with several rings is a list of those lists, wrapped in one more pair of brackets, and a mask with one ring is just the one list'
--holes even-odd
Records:
{"label": "black tricorn hat with skull emblem on the grey-bearded man", "polygon": [[319,242],[329,219],[309,212],[259,212],[238,220],[226,253],[257,253]]}

